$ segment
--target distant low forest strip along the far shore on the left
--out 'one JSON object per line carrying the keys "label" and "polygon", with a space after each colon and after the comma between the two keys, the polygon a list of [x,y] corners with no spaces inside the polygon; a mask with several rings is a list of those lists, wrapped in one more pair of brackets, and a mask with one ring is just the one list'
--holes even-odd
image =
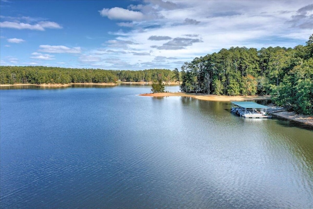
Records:
{"label": "distant low forest strip along the far shore on the left", "polygon": [[174,70],[100,70],[69,69],[44,66],[0,67],[0,84],[67,84],[174,81]]}

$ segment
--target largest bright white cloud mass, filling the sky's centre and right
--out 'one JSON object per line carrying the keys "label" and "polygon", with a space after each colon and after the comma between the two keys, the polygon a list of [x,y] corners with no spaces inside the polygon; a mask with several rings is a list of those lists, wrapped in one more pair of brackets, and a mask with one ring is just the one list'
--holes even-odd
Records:
{"label": "largest bright white cloud mass, filling the sky's centre and right", "polygon": [[[137,66],[135,69],[138,69],[149,65],[150,68],[155,68],[162,63],[170,69],[180,68],[179,65],[185,61],[222,48],[293,47],[299,39],[303,39],[305,44],[312,34],[310,30],[288,28],[286,25],[286,21],[292,20],[292,15],[297,13],[306,12],[308,17],[311,6],[306,6],[307,1],[270,1],[267,4],[262,1],[169,1],[175,4],[172,8],[158,5],[164,1],[144,2],[146,4],[128,7],[140,11],[144,19],[127,24],[117,23],[119,26],[134,24],[135,27],[128,32],[112,32],[111,35],[116,35],[117,38],[103,45],[107,51],[111,48],[115,51],[139,51],[128,51],[123,55],[106,54],[107,57],[118,59],[120,65],[124,61],[123,69],[129,66]],[[151,16],[162,18],[149,19]],[[294,42],[282,41],[288,34],[292,34],[292,37],[289,36]],[[123,41],[120,40],[121,37]],[[141,56],[139,60],[137,53],[145,56]],[[165,59],[173,57],[173,54],[175,60]],[[161,60],[162,57],[165,57],[164,60]]]}

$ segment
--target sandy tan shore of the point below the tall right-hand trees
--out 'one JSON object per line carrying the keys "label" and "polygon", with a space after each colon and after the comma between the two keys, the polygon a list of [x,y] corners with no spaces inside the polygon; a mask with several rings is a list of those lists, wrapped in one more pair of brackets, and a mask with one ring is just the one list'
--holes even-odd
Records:
{"label": "sandy tan shore of the point below the tall right-hand trees", "polygon": [[163,96],[188,96],[196,99],[207,100],[207,101],[251,101],[251,100],[265,100],[270,99],[270,95],[265,96],[217,96],[214,94],[195,94],[195,93],[144,93],[141,96],[153,96],[153,97],[163,97]]}

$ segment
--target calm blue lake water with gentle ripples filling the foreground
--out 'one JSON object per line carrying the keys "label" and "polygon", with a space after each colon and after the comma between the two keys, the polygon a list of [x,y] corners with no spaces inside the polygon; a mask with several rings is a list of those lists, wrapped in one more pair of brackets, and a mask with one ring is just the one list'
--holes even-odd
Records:
{"label": "calm blue lake water with gentle ripples filling the foreground", "polygon": [[0,208],[313,208],[312,129],[150,89],[0,90]]}

